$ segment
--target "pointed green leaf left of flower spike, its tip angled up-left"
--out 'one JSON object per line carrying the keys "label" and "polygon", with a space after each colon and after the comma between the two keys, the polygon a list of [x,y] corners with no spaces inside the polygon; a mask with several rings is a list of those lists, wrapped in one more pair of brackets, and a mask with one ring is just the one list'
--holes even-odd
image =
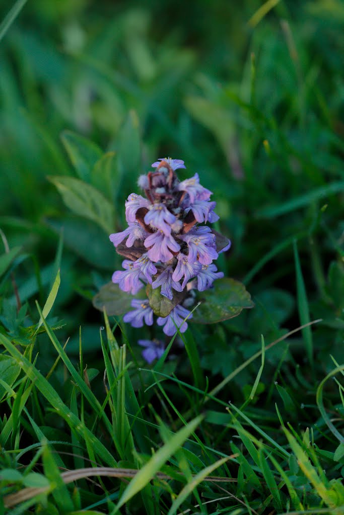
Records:
{"label": "pointed green leaf left of flower spike, its tip angled up-left", "polygon": [[88,218],[109,234],[113,227],[113,206],[90,184],[74,177],[48,177],[57,187],[63,202],[77,215]]}

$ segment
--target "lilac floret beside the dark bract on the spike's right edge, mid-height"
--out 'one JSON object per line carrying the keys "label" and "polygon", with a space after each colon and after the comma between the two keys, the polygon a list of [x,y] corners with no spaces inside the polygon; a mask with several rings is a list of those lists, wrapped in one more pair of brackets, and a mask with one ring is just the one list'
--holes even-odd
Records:
{"label": "lilac floret beside the dark bract on the spike's right edge, mid-height", "polygon": [[178,235],[178,238],[188,244],[189,263],[194,263],[198,257],[202,265],[210,265],[212,260],[219,256],[215,250],[215,234],[205,231],[205,229],[210,231],[209,227],[197,227],[191,229],[187,234]]}

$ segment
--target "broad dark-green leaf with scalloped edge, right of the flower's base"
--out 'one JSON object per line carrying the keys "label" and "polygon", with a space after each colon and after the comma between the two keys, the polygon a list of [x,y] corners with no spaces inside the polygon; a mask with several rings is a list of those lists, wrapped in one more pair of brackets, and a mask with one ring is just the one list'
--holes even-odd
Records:
{"label": "broad dark-green leaf with scalloped edge, right of the flower's base", "polygon": [[234,279],[217,279],[214,287],[200,291],[196,297],[201,305],[193,312],[190,322],[215,323],[238,316],[245,308],[254,306],[245,286]]}

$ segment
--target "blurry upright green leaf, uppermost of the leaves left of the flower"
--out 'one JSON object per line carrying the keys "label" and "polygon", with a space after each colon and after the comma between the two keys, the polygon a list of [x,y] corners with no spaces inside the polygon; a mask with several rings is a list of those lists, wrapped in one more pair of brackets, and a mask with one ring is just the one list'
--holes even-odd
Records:
{"label": "blurry upright green leaf, uppermost of the leaves left of the flower", "polygon": [[84,136],[71,131],[62,132],[61,140],[76,173],[80,179],[89,182],[93,166],[103,155],[102,150]]}

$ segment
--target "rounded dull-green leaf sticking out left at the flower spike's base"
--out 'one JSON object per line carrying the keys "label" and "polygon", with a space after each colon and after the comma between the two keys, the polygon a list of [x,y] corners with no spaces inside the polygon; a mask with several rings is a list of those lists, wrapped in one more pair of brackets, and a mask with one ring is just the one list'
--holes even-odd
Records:
{"label": "rounded dull-green leaf sticking out left at the flower spike's base", "polygon": [[107,283],[99,292],[93,297],[93,306],[99,310],[104,311],[104,307],[108,316],[124,315],[130,311],[133,299],[145,298],[144,289],[140,290],[136,295],[130,295],[122,291],[118,284]]}

